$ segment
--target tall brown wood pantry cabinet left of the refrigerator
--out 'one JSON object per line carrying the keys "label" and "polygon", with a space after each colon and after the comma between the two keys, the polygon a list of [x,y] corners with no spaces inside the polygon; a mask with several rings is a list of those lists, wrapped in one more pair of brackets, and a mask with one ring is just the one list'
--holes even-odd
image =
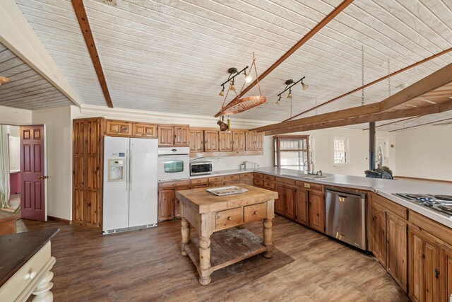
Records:
{"label": "tall brown wood pantry cabinet left of the refrigerator", "polygon": [[104,160],[102,117],[73,120],[73,223],[102,230]]}

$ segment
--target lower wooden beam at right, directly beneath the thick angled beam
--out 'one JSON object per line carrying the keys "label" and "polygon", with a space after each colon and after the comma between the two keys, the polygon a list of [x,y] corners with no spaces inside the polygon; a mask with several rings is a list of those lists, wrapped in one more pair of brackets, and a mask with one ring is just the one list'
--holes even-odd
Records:
{"label": "lower wooden beam at right, directly beneath the thick angled beam", "polygon": [[307,124],[298,127],[291,127],[285,129],[277,129],[272,131],[266,131],[265,135],[276,135],[276,134],[286,134],[286,133],[294,133],[294,132],[304,132],[316,129],[326,129],[333,127],[342,127],[348,126],[350,124],[363,124],[367,122],[381,122],[383,120],[394,120],[405,117],[418,117],[422,115],[431,115],[434,113],[445,112],[448,110],[452,110],[452,100],[449,100],[446,103],[430,105],[426,107],[417,107],[407,110],[397,110],[391,112],[382,112],[373,115],[364,115],[361,117],[352,117],[343,120],[334,120],[334,121],[325,121],[319,122],[316,124]]}

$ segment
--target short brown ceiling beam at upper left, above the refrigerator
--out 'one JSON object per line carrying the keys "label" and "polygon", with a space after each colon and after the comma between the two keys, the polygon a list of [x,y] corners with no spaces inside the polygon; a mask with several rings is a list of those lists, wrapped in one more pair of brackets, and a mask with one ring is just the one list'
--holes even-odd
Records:
{"label": "short brown ceiling beam at upper left, above the refrigerator", "polygon": [[88,22],[88,16],[86,15],[85,6],[83,0],[71,0],[73,10],[76,12],[78,24],[80,24],[83,37],[85,38],[86,47],[90,53],[91,60],[93,61],[94,69],[99,79],[100,87],[104,93],[105,102],[109,108],[113,108],[112,98],[108,91],[107,81],[105,80],[104,71],[100,64],[99,54],[97,54],[97,48],[94,42],[93,32],[91,31],[90,23]]}

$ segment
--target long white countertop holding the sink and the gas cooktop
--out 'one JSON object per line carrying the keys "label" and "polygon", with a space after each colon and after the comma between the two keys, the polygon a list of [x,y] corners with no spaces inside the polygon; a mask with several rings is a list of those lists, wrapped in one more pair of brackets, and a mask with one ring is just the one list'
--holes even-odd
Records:
{"label": "long white countertop holding the sink and the gas cooktop", "polygon": [[452,185],[437,182],[424,182],[419,180],[383,180],[379,178],[365,178],[358,176],[335,175],[323,173],[328,178],[320,180],[304,179],[297,176],[301,171],[281,169],[274,167],[256,168],[254,172],[261,172],[284,178],[292,178],[295,180],[304,180],[307,182],[319,183],[322,185],[334,185],[339,187],[349,187],[359,190],[368,190],[376,192],[376,194],[391,199],[393,202],[412,209],[419,214],[429,217],[434,221],[444,224],[452,228],[452,219],[438,214],[436,211],[423,207],[419,204],[409,202],[401,197],[394,196],[394,193],[411,193],[411,194],[452,194]]}

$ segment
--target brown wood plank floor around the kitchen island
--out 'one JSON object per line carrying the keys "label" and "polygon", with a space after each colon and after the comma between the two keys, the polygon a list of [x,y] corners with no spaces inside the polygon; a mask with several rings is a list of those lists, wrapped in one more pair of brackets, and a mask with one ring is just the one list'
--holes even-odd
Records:
{"label": "brown wood plank floor around the kitchen island", "polygon": [[[220,269],[208,286],[179,252],[180,221],[107,236],[18,221],[18,232],[50,227],[60,228],[52,240],[54,301],[408,301],[374,257],[280,216],[272,259],[256,255]],[[261,223],[246,228],[262,236]]]}

